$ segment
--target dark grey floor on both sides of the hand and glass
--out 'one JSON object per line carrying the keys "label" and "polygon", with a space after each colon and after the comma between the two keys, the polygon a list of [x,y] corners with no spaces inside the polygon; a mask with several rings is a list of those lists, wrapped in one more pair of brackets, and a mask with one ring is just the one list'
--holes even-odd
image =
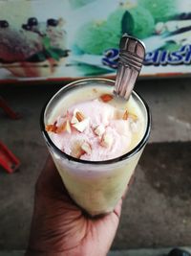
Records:
{"label": "dark grey floor on both sides of the hand and glass", "polygon": [[[124,199],[113,250],[191,245],[190,83],[189,78],[137,83],[152,111],[152,132]],[[48,155],[39,115],[60,86],[0,85],[0,95],[21,114],[14,121],[0,109],[0,140],[21,161],[12,175],[0,168],[0,250],[11,255],[28,243],[33,188]]]}

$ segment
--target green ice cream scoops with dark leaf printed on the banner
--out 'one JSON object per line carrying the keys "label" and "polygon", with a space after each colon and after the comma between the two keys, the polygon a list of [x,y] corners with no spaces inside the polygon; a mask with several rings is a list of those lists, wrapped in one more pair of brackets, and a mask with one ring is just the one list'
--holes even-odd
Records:
{"label": "green ice cream scoops with dark leaf printed on the banner", "polygon": [[152,35],[154,31],[154,18],[148,10],[121,6],[105,20],[83,24],[75,36],[75,44],[83,53],[102,55],[108,49],[117,49],[118,41],[124,33],[141,39]]}

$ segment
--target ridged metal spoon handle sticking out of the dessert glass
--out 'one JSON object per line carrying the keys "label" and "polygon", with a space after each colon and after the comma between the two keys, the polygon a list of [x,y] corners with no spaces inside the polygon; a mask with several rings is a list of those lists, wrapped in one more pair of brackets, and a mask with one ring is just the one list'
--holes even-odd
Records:
{"label": "ridged metal spoon handle sticking out of the dessert glass", "polygon": [[119,43],[119,60],[114,92],[125,100],[128,100],[131,95],[144,57],[145,46],[143,42],[133,36],[122,35]]}

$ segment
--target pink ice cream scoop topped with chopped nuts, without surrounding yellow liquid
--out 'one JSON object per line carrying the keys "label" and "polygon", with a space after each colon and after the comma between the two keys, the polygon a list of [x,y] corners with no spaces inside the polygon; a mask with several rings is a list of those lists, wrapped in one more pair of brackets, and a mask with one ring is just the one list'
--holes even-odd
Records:
{"label": "pink ice cream scoop topped with chopped nuts, without surrounding yellow liquid", "polygon": [[96,99],[71,106],[47,130],[61,151],[83,160],[101,161],[129,151],[135,132],[132,123],[135,129],[138,121],[124,118],[124,111]]}

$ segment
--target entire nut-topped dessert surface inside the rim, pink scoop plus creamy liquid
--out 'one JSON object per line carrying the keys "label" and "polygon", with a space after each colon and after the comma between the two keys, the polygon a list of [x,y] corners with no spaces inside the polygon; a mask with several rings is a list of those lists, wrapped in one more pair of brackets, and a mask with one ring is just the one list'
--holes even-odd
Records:
{"label": "entire nut-topped dessert surface inside the rim, pink scoop plus creamy liquid", "polygon": [[73,95],[66,108],[65,99],[57,106],[62,114],[54,113],[49,120],[47,130],[56,147],[91,161],[113,159],[131,151],[145,126],[133,99],[128,104],[120,102],[110,90],[101,87],[89,86],[84,93],[85,101],[77,103]]}

